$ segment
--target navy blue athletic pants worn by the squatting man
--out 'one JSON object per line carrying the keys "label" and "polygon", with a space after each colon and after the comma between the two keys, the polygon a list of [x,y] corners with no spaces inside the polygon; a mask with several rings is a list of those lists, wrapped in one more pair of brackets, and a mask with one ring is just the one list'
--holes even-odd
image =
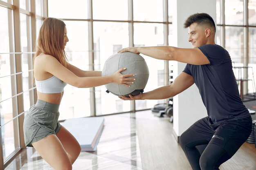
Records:
{"label": "navy blue athletic pants worn by the squatting man", "polygon": [[[236,153],[251,132],[251,116],[217,124],[204,117],[180,136],[180,146],[193,170],[219,170],[219,166]],[[203,150],[200,152],[199,148]]]}

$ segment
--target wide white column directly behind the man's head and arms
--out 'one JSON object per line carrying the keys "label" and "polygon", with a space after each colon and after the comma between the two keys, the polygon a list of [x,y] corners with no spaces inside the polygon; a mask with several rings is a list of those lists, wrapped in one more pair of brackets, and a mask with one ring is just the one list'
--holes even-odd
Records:
{"label": "wide white column directly behind the man's head and arms", "polygon": [[[174,46],[193,48],[188,42],[188,29],[183,28],[184,21],[194,13],[208,13],[216,22],[216,0],[171,0],[173,7],[173,38]],[[173,74],[177,77],[186,64],[174,62]],[[173,134],[178,139],[180,135],[195,121],[207,116],[195,84],[173,98]]]}

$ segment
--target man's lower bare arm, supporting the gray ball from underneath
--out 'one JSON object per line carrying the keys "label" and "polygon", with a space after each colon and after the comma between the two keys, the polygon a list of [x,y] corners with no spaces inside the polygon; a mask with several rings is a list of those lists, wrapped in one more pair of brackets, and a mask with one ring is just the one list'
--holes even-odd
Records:
{"label": "man's lower bare arm, supporting the gray ball from underneath", "polygon": [[187,73],[180,73],[172,84],[157,88],[153,91],[141,93],[137,96],[129,95],[130,97],[119,96],[123,100],[144,100],[144,99],[167,99],[173,97],[182,91],[186,90],[194,84],[193,77]]}

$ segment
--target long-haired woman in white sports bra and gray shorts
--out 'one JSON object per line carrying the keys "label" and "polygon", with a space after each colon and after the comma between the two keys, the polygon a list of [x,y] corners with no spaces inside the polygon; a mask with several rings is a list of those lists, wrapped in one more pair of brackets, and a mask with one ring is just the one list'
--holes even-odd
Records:
{"label": "long-haired woman in white sports bra and gray shorts", "polygon": [[132,84],[134,75],[122,75],[122,68],[113,75],[101,77],[101,71],[83,71],[67,62],[68,42],[65,23],[46,18],[40,28],[34,59],[34,78],[38,100],[24,120],[25,145],[34,147],[54,170],[71,170],[81,147],[74,136],[58,122],[58,108],[66,84],[79,88],[117,83]]}

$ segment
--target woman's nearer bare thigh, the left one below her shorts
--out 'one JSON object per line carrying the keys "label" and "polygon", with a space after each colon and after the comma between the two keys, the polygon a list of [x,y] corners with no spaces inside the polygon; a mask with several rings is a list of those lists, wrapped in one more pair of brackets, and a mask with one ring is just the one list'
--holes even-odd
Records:
{"label": "woman's nearer bare thigh, the left one below her shorts", "polygon": [[54,170],[72,170],[70,158],[56,135],[49,135],[32,145]]}

